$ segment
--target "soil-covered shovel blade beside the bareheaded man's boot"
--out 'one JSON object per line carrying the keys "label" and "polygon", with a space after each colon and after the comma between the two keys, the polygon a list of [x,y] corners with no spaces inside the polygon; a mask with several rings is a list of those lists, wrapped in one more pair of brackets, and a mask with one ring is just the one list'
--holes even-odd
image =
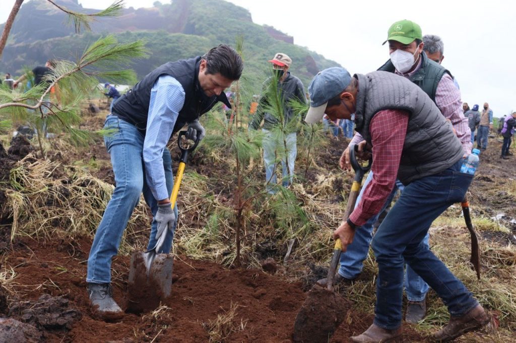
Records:
{"label": "soil-covered shovel blade beside the bareheaded man's boot", "polygon": [[[154,261],[147,268],[149,257]],[[127,287],[127,312],[140,314],[155,310],[172,293],[174,258],[169,254],[136,251],[131,255]]]}

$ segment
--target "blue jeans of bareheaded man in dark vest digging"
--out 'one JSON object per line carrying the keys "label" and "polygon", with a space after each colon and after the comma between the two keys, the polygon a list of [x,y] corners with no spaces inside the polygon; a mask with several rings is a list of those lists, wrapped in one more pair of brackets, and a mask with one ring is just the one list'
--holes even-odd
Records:
{"label": "blue jeans of bareheaded man in dark vest digging", "polygon": [[[134,125],[114,115],[107,116],[104,128],[118,129],[113,135],[104,137],[104,143],[111,156],[116,187],[95,232],[88,258],[86,281],[93,283],[111,282],[111,258],[117,254],[122,234],[140,200],[141,193],[143,192],[143,197],[153,216],[156,215],[158,209],[157,201],[154,199],[145,178],[142,158],[144,133]],[[163,151],[163,167],[165,168],[165,180],[170,197],[173,187],[173,174],[172,159],[167,148]],[[174,212],[177,218],[177,207],[174,207]],[[172,233],[167,234],[163,250],[158,251],[158,253],[170,252],[176,224],[177,221]],[[156,231],[157,222],[153,219],[148,249],[153,248],[156,244]]]}

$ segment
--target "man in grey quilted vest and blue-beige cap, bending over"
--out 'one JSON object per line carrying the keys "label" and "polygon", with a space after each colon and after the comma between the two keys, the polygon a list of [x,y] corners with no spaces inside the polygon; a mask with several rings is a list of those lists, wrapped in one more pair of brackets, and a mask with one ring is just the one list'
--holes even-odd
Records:
{"label": "man in grey quilted vest and blue-beige cap, bending over", "polygon": [[328,68],[312,79],[308,91],[305,122],[318,122],[325,113],[332,120],[354,114],[357,132],[372,147],[375,178],[333,233],[343,251],[353,242],[355,229],[361,230],[382,208],[396,179],[405,185],[372,241],[378,263],[374,322],[351,340],[385,342],[401,337],[405,262],[448,306],[450,321],[434,339],[452,340],[487,324],[489,316],[471,292],[423,243],[432,221],[464,198],[473,179],[459,172],[461,142],[436,104],[407,78],[382,71],[351,77],[344,68]]}

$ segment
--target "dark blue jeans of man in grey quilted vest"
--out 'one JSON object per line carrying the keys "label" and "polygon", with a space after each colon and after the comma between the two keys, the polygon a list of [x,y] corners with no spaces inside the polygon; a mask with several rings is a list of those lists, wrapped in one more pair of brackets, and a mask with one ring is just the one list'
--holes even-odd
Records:
{"label": "dark blue jeans of man in grey quilted vest", "polygon": [[395,330],[401,325],[404,262],[443,300],[451,316],[462,316],[478,302],[446,265],[423,243],[433,220],[462,201],[473,175],[459,173],[462,160],[405,187],[373,238],[378,263],[375,324]]}

